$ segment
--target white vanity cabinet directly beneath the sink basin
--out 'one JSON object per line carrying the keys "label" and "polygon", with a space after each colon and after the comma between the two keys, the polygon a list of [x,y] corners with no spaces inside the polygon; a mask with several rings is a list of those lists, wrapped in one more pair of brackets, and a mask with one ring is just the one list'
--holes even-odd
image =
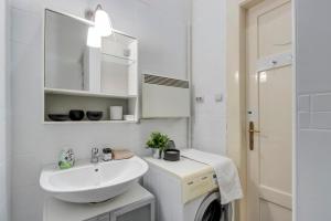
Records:
{"label": "white vanity cabinet directly beneath the sink basin", "polygon": [[43,221],[156,221],[154,197],[140,185],[102,203],[71,203],[46,198]]}

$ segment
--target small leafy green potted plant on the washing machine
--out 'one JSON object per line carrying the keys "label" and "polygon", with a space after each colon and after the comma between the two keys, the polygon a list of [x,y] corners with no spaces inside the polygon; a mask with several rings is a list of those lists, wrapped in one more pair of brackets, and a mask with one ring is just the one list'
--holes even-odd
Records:
{"label": "small leafy green potted plant on the washing machine", "polygon": [[150,135],[146,145],[152,150],[153,158],[161,159],[162,152],[167,149],[169,140],[167,135],[154,131]]}

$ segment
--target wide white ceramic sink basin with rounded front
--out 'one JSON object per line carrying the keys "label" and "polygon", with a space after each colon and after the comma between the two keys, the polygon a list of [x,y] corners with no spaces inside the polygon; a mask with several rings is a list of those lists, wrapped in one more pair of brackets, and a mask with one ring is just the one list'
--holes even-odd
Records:
{"label": "wide white ceramic sink basin with rounded front", "polygon": [[108,162],[79,162],[60,170],[42,170],[40,186],[49,194],[67,202],[103,202],[130,189],[148,170],[139,157]]}

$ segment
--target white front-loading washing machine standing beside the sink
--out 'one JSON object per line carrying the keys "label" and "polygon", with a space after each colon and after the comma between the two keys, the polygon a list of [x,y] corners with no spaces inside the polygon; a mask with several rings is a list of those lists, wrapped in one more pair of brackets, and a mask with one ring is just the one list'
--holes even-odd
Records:
{"label": "white front-loading washing machine standing beside the sink", "polygon": [[180,161],[146,158],[143,186],[157,198],[157,221],[231,221],[231,206],[221,204],[211,166],[188,158]]}

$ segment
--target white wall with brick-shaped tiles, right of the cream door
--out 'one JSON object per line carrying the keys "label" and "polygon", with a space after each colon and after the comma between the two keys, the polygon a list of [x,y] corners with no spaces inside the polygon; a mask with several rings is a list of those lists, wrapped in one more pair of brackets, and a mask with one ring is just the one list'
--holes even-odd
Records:
{"label": "white wall with brick-shaped tiles, right of the cream door", "polygon": [[296,0],[297,220],[331,220],[330,0]]}

